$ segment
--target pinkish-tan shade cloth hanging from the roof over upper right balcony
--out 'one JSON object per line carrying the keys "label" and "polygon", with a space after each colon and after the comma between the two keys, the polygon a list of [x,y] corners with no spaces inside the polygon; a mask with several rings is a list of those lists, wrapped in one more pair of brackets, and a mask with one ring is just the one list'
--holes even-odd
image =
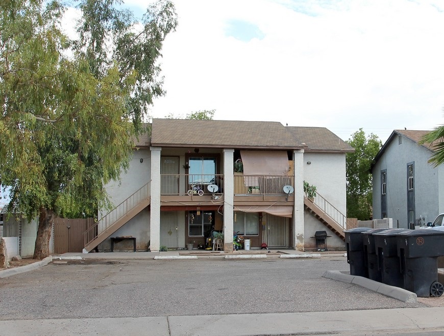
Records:
{"label": "pinkish-tan shade cloth hanging from the roof over upper right balcony", "polygon": [[[287,176],[290,170],[285,151],[240,151],[243,175]],[[245,179],[245,186],[257,186],[257,178]]]}

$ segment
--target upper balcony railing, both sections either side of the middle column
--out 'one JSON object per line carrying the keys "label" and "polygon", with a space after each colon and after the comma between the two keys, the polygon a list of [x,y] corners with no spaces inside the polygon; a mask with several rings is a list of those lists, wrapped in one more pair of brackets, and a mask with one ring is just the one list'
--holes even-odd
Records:
{"label": "upper balcony railing, both sections either side of the middle column", "polygon": [[[224,193],[223,174],[161,174],[161,195],[213,194],[208,185],[217,185],[214,194]],[[283,195],[284,185],[294,186],[292,176],[234,175],[234,195]],[[190,191],[192,190],[192,191]],[[202,191],[200,191],[202,190]]]}

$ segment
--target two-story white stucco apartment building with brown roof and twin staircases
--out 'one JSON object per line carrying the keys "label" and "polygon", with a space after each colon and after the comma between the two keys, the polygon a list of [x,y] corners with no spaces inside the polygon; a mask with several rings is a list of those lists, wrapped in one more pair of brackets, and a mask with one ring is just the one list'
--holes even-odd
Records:
{"label": "two-story white stucco apartment building with brown roof and twin staircases", "polygon": [[[212,230],[224,233],[226,252],[233,232],[252,249],[304,250],[314,249],[315,231],[326,230],[329,248],[343,248],[353,149],[328,129],[188,119],[150,126],[121,182],[107,186],[116,208],[87,232],[87,251],[110,250],[116,236],[135,237],[137,250],[197,248]],[[314,202],[303,181],[316,185]]]}

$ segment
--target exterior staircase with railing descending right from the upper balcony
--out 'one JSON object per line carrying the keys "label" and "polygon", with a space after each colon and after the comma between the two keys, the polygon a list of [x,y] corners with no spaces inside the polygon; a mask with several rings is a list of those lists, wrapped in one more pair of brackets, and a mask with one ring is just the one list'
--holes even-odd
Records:
{"label": "exterior staircase with railing descending right from the upper balcony", "polygon": [[343,231],[347,229],[348,219],[346,215],[336,209],[319,194],[316,195],[313,201],[307,197],[304,197],[304,207],[319,222],[323,223],[334,234],[341,238],[342,241],[345,242],[346,236]]}

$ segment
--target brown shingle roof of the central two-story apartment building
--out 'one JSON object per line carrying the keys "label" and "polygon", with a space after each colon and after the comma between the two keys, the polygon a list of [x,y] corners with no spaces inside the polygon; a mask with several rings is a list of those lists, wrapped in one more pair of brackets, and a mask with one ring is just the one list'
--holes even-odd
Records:
{"label": "brown shingle roof of the central two-story apartment building", "polygon": [[[149,146],[146,137],[139,138],[137,146]],[[326,128],[286,127],[278,122],[194,119],[153,119],[151,146],[354,151]]]}

